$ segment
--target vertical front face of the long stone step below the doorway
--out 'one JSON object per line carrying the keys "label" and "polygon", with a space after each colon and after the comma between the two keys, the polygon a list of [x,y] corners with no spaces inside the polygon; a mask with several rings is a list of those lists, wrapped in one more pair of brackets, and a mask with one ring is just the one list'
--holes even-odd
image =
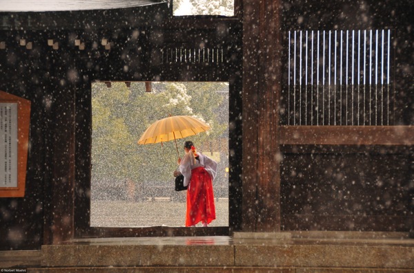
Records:
{"label": "vertical front face of the long stone step below the doorway", "polygon": [[43,267],[270,266],[414,269],[414,248],[393,245],[44,245]]}

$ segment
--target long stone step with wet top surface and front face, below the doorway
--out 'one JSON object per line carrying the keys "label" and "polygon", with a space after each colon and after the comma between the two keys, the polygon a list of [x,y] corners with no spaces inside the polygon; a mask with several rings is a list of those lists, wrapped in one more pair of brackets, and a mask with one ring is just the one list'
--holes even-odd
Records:
{"label": "long stone step with wet top surface and front face, below the doorway", "polygon": [[[233,237],[79,239],[43,245],[43,267],[343,267],[414,269],[414,240],[400,235],[298,237],[294,232]],[[346,235],[346,234],[345,234]],[[352,234],[351,234],[352,235]],[[381,236],[380,236],[381,235]]]}

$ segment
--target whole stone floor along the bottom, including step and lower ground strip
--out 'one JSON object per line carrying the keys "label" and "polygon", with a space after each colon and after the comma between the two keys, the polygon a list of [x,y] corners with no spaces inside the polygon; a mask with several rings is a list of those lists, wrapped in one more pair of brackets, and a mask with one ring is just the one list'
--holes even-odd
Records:
{"label": "whole stone floor along the bottom, including step and lower ground strip", "polygon": [[414,272],[414,239],[401,232],[235,232],[232,237],[75,239],[43,245],[26,256],[0,252],[0,268],[6,267],[39,273],[408,273]]}

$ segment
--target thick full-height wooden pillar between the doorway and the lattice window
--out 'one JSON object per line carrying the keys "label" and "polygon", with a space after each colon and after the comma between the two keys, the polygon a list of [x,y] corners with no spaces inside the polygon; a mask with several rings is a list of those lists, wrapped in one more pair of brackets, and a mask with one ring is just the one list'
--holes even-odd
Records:
{"label": "thick full-height wooden pillar between the doorway and the lattice window", "polygon": [[244,232],[280,230],[280,0],[243,1]]}

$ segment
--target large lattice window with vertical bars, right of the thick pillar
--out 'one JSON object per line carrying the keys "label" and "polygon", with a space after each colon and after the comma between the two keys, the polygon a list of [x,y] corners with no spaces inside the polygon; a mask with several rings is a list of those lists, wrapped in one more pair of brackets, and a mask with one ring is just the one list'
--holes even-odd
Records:
{"label": "large lattice window with vertical bars, right of the thick pillar", "polygon": [[288,125],[392,125],[393,32],[288,32]]}

